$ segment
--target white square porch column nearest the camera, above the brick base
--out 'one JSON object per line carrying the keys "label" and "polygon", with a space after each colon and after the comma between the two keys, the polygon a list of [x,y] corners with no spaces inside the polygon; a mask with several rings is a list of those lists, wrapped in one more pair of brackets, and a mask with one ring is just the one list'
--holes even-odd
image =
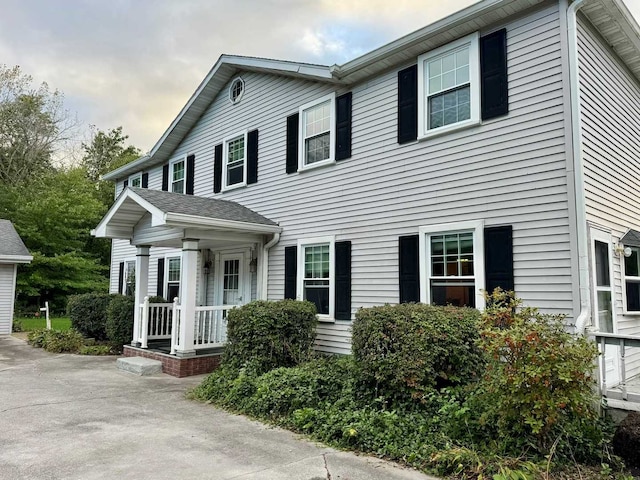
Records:
{"label": "white square porch column nearest the camera, above the brick base", "polygon": [[196,320],[196,282],[198,278],[198,240],[182,240],[182,261],[180,262],[180,344],[176,349],[178,357],[196,354],[193,348]]}

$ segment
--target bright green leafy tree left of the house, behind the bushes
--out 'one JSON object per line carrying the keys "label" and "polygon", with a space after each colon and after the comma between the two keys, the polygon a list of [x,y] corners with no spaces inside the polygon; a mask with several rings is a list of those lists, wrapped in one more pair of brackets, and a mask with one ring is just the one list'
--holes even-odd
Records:
{"label": "bright green leafy tree left of the house, behind the bushes", "polygon": [[23,304],[48,300],[60,310],[68,295],[106,291],[108,243],[98,246],[90,230],[107,207],[83,168],[46,172],[28,184],[7,187],[3,196],[9,218],[34,257],[19,270]]}

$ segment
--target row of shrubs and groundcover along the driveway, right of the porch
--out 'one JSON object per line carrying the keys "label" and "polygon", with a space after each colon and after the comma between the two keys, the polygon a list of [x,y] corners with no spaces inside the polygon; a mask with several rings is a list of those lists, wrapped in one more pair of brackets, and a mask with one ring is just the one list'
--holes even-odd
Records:
{"label": "row of shrubs and groundcover along the driveway, right of the porch", "polygon": [[[257,322],[266,335],[267,317],[236,321]],[[268,321],[277,336],[278,322]],[[602,478],[615,462],[610,424],[593,407],[596,349],[513,294],[495,292],[482,315],[418,304],[361,309],[353,356],[303,361],[309,349],[297,366],[276,361],[246,324],[230,331],[232,341],[238,332],[244,347],[195,398],[439,475],[551,478],[548,469],[577,460]]]}

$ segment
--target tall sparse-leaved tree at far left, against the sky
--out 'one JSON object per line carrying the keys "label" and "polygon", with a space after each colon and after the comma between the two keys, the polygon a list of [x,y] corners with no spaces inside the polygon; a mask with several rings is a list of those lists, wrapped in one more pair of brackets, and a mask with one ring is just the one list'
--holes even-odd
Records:
{"label": "tall sparse-leaved tree at far left, against the sky", "polygon": [[76,122],[63,95],[20,67],[0,65],[0,183],[22,184],[52,169],[52,158],[74,132]]}

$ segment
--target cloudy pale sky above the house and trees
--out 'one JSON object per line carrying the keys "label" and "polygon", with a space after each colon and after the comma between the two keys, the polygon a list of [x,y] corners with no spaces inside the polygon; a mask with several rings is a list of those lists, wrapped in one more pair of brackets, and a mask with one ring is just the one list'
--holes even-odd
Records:
{"label": "cloudy pale sky above the house and trees", "polygon": [[[2,0],[0,63],[62,91],[83,125],[121,125],[147,151],[222,53],[343,63],[472,3]],[[640,0],[626,3],[640,18]]]}

